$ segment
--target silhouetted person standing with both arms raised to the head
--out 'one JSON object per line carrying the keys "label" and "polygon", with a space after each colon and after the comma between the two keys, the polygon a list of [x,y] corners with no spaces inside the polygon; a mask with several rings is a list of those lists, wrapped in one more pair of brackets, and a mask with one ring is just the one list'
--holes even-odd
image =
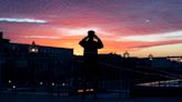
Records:
{"label": "silhouetted person standing with both arms raised to the head", "polygon": [[87,88],[87,82],[90,82],[90,85],[94,88],[94,98],[97,98],[100,72],[98,68],[98,49],[102,49],[103,44],[92,30],[88,32],[88,37],[83,38],[79,44],[84,49],[83,84]]}

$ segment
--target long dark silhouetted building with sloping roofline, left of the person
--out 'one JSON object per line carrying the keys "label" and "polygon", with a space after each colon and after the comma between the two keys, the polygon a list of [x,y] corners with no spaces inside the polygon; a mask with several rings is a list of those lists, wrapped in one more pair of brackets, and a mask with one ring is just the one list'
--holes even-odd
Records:
{"label": "long dark silhouetted building with sloping roofline, left of the person", "polygon": [[61,82],[72,68],[73,49],[11,43],[0,32],[0,83]]}

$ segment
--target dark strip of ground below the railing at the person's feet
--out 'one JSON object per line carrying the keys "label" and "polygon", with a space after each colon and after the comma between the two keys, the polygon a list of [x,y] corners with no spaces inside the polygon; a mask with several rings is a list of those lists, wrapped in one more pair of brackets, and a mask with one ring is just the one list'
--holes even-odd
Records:
{"label": "dark strip of ground below the railing at the person's feet", "polygon": [[99,94],[99,99],[88,96],[54,98],[48,95],[17,94],[16,96],[1,96],[0,102],[182,102],[182,98],[114,98],[110,94]]}

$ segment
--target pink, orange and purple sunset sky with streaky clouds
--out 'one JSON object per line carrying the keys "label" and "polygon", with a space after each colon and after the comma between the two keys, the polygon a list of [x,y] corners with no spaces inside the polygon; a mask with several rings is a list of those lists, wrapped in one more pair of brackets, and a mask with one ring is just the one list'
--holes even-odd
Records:
{"label": "pink, orange and purple sunset sky with streaky clouds", "polygon": [[94,30],[100,53],[182,55],[182,0],[0,0],[0,31],[16,43],[72,48]]}

